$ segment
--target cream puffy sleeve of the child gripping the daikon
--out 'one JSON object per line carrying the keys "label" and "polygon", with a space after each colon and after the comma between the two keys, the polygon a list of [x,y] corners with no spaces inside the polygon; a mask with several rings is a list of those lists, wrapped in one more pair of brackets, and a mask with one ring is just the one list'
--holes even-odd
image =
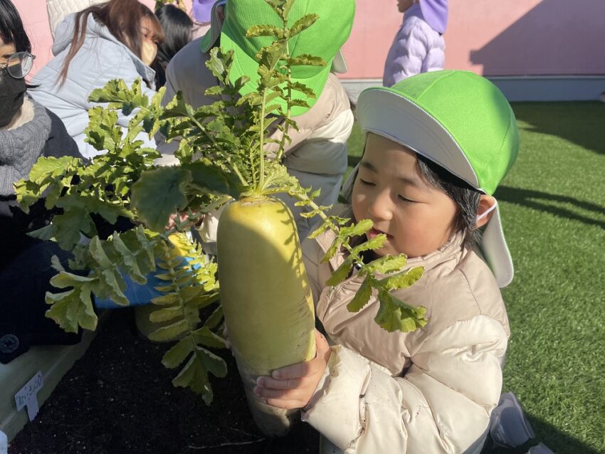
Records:
{"label": "cream puffy sleeve of the child gripping the daikon", "polygon": [[401,377],[342,346],[302,414],[352,453],[478,452],[502,387],[503,326],[478,315],[431,336]]}

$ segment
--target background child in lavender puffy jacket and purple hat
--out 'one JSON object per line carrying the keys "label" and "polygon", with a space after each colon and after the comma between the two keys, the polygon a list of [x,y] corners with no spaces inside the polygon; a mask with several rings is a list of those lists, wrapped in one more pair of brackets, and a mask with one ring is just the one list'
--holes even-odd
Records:
{"label": "background child in lavender puffy jacket and purple hat", "polygon": [[443,69],[448,0],[397,0],[404,21],[384,64],[382,84],[390,87],[411,75]]}

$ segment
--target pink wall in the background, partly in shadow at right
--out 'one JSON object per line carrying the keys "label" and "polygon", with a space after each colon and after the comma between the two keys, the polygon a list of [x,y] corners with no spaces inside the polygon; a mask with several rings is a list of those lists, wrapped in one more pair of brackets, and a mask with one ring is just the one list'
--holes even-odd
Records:
{"label": "pink wall in the background, partly in shadow at right", "polygon": [[[35,71],[51,58],[46,0],[13,1],[37,56]],[[344,77],[382,78],[400,23],[396,0],[357,0]],[[446,68],[485,75],[605,74],[605,0],[451,0],[445,38]]]}

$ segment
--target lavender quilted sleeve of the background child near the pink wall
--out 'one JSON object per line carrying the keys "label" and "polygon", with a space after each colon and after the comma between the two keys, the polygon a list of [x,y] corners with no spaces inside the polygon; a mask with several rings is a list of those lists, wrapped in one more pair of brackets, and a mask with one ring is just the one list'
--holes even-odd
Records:
{"label": "lavender quilted sleeve of the background child near the pink wall", "polygon": [[393,41],[384,67],[383,83],[390,87],[419,74],[428,53],[426,35],[419,26],[403,26]]}

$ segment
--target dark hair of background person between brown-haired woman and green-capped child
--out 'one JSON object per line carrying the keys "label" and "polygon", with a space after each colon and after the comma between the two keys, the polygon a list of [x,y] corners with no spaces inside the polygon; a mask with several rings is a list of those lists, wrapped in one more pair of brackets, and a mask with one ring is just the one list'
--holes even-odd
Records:
{"label": "dark hair of background person between brown-haired woman and green-capped child", "polygon": [[170,59],[191,41],[194,23],[185,11],[171,4],[158,8],[155,15],[164,28],[164,42],[157,46],[157,57],[152,65],[156,89],[159,89],[166,83],[166,67]]}

